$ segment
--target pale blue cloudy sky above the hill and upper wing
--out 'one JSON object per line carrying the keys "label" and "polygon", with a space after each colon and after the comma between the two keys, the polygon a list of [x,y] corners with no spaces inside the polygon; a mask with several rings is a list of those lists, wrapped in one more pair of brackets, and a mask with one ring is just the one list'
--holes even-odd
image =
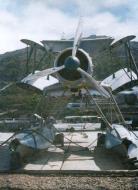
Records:
{"label": "pale blue cloudy sky above the hill and upper wing", "polygon": [[24,48],[23,38],[71,38],[80,17],[84,37],[138,40],[138,0],[0,0],[0,54]]}

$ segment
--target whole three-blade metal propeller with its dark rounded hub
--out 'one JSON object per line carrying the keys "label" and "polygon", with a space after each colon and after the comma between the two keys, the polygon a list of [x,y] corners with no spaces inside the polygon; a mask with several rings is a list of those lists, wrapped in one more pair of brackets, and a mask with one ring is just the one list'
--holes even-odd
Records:
{"label": "whole three-blade metal propeller with its dark rounded hub", "polygon": [[84,76],[85,78],[87,78],[91,86],[95,88],[100,94],[102,94],[103,96],[107,98],[110,97],[110,94],[108,93],[108,91],[106,91],[102,86],[100,86],[98,82],[88,72],[86,72],[84,69],[81,68],[82,61],[84,60],[80,60],[79,57],[76,56],[78,48],[79,48],[79,44],[82,38],[81,26],[82,26],[82,20],[80,19],[78,23],[78,27],[76,29],[71,55],[65,58],[63,65],[59,64],[59,66],[57,67],[45,69],[43,71],[39,71],[37,73],[31,74],[25,78],[26,83],[29,82],[30,80],[37,80],[39,77],[48,76],[65,69],[66,71],[68,71],[67,73],[71,73],[72,75],[76,73],[77,71],[78,73],[80,73],[81,76]]}

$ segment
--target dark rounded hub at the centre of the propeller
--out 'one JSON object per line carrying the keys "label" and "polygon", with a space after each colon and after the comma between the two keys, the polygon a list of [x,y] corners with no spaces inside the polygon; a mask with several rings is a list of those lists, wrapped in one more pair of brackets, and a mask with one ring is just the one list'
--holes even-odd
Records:
{"label": "dark rounded hub at the centre of the propeller", "polygon": [[77,57],[69,56],[65,60],[64,65],[68,70],[76,70],[80,66],[80,60]]}

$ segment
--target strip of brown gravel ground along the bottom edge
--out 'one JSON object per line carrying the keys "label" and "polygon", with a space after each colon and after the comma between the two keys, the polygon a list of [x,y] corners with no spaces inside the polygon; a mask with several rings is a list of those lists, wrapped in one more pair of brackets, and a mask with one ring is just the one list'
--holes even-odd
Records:
{"label": "strip of brown gravel ground along the bottom edge", "polygon": [[21,174],[0,175],[0,189],[7,190],[137,190],[138,178],[91,176],[32,176]]}

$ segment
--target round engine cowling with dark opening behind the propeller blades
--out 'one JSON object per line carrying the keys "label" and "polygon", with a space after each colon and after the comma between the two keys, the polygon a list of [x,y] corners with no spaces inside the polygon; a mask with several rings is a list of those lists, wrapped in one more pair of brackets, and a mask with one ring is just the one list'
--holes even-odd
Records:
{"label": "round engine cowling with dark opening behind the propeller blades", "polygon": [[72,57],[72,48],[67,48],[62,51],[56,58],[54,66],[59,67],[62,65],[64,65],[65,68],[57,72],[57,77],[63,83],[80,83],[82,76],[77,71],[77,67],[80,67],[90,75],[92,75],[93,72],[91,57],[82,49],[77,50],[75,57]]}

